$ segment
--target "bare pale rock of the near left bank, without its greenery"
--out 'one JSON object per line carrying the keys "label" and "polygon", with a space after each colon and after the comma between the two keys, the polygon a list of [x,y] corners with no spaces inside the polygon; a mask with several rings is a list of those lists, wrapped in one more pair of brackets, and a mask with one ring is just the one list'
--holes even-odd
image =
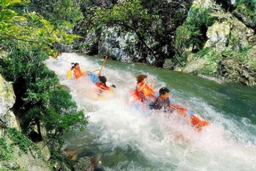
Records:
{"label": "bare pale rock of the near left bank, without its greenery", "polygon": [[[16,119],[11,108],[15,103],[13,85],[6,82],[0,75],[0,137],[3,137],[9,146],[12,146],[13,152],[10,154],[10,160],[0,161],[0,170],[50,170],[46,161],[50,158],[50,152],[47,146],[41,145],[43,158],[36,158],[31,153],[23,152],[18,146],[11,145],[13,141],[6,135],[9,128],[19,128],[19,122]],[[0,143],[0,149],[2,149]],[[40,144],[38,144],[40,146]],[[32,149],[31,149],[32,150]],[[1,156],[0,152],[0,156]]]}

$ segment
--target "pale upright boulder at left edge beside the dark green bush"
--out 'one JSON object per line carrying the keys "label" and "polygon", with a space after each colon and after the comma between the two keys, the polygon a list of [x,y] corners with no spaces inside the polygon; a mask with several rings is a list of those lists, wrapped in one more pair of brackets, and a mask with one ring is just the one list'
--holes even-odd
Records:
{"label": "pale upright boulder at left edge beside the dark green bush", "polygon": [[6,128],[19,128],[18,121],[11,111],[14,103],[13,86],[0,75],[0,136]]}

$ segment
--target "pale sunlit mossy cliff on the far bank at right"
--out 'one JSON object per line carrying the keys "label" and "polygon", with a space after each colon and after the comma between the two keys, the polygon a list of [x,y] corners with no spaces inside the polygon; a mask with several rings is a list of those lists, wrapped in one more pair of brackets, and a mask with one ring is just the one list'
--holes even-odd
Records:
{"label": "pale sunlit mossy cliff on the far bank at right", "polygon": [[[237,10],[226,12],[215,1],[194,1],[193,6],[212,9],[216,18],[208,27],[207,41],[200,52],[188,51],[187,63],[182,71],[216,76],[223,80],[256,86],[256,35],[248,18]],[[234,15],[235,14],[235,15]],[[244,22],[245,21],[245,22]],[[248,27],[250,25],[251,27]]]}

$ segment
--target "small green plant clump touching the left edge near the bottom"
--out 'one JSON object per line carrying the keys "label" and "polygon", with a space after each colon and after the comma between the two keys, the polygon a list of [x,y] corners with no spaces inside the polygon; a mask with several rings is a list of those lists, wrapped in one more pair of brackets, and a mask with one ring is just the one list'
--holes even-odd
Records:
{"label": "small green plant clump touching the left edge near the bottom", "polygon": [[13,146],[10,146],[4,137],[0,137],[0,161],[10,160],[13,153]]}

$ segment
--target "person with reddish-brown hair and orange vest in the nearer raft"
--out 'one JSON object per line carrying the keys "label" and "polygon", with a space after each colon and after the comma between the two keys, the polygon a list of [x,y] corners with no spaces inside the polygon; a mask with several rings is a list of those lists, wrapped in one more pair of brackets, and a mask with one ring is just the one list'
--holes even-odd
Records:
{"label": "person with reddish-brown hair and orange vest in the nearer raft", "polygon": [[138,97],[140,101],[148,101],[151,99],[155,99],[155,91],[153,91],[154,80],[151,80],[151,86],[147,83],[146,75],[138,75],[137,77],[137,85],[135,89],[135,95]]}

